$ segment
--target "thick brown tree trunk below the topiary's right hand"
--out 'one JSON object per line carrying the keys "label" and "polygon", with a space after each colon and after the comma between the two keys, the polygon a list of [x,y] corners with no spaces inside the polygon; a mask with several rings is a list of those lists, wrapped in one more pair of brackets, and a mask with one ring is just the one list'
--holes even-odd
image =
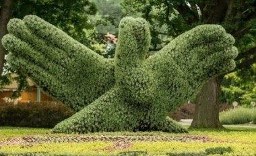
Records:
{"label": "thick brown tree trunk below the topiary's right hand", "polygon": [[223,76],[211,78],[196,97],[195,116],[191,128],[223,128],[219,121],[219,94]]}

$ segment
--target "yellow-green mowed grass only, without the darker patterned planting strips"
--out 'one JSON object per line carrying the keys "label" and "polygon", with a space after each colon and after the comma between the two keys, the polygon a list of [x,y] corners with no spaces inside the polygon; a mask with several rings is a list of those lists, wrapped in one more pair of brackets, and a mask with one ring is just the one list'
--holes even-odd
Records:
{"label": "yellow-green mowed grass only, without the darker patterned planting strips", "polygon": [[[30,128],[15,128],[15,127],[1,127],[0,141],[7,141],[13,137],[24,137],[28,135],[65,135],[52,134],[51,129],[30,129]],[[93,141],[88,143],[42,143],[38,145],[1,145],[1,152],[45,152],[45,153],[70,153],[72,155],[110,155],[117,154],[123,151],[146,151],[148,153],[166,152],[203,152],[207,148],[215,147],[231,147],[232,152],[224,155],[256,155],[256,129],[247,128],[226,128],[226,130],[212,130],[212,129],[190,129],[189,133],[162,133],[162,132],[117,132],[117,133],[90,133],[90,136],[169,136],[169,137],[184,137],[187,135],[193,136],[207,136],[212,141],[135,141],[128,149],[113,149],[107,150],[108,147],[113,147],[114,143],[111,141]],[[164,155],[164,154],[163,154]]]}

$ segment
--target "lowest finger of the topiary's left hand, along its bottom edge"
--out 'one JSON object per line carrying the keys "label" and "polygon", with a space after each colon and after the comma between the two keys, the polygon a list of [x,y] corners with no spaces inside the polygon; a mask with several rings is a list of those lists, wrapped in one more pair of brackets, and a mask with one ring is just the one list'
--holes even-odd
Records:
{"label": "lowest finger of the topiary's left hand, along its bottom edge", "polygon": [[53,98],[61,100],[73,110],[81,110],[84,108],[84,96],[79,96],[79,88],[72,86],[70,83],[63,83],[61,80],[65,78],[57,78],[39,66],[35,66],[33,62],[29,62],[24,58],[17,58],[11,52],[7,56],[7,62],[13,68],[24,75],[28,76],[38,86],[51,95]]}

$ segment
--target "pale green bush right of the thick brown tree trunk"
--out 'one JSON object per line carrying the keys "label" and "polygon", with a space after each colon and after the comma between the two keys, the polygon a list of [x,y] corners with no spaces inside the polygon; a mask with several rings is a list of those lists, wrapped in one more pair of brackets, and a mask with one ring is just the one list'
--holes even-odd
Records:
{"label": "pale green bush right of the thick brown tree trunk", "polygon": [[253,111],[250,108],[238,107],[235,110],[220,112],[220,123],[225,125],[244,124],[253,121]]}

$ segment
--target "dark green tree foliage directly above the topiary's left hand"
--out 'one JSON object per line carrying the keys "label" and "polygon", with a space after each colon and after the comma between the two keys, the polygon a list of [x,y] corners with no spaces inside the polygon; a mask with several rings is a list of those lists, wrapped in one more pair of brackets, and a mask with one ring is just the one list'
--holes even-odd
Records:
{"label": "dark green tree foliage directly above the topiary's left hand", "polygon": [[40,17],[60,29],[63,29],[75,40],[90,46],[84,29],[92,29],[88,15],[96,14],[96,5],[88,0],[14,0],[13,17],[23,18],[26,15],[40,15]]}

